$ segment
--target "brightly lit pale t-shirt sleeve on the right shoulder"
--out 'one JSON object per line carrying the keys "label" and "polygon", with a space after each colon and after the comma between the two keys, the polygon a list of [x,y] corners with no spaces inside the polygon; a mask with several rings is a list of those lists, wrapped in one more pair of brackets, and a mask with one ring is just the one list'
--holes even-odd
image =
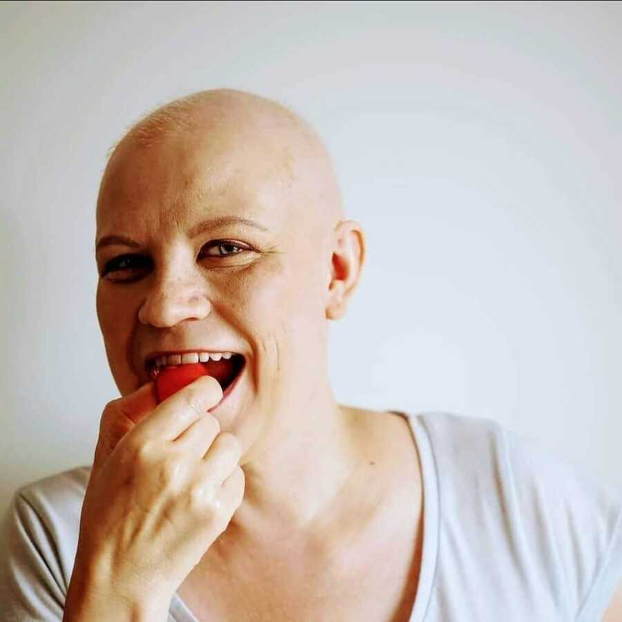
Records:
{"label": "brightly lit pale t-shirt sleeve on the right shoulder", "polygon": [[509,464],[543,577],[576,622],[601,622],[622,581],[622,487],[507,431]]}

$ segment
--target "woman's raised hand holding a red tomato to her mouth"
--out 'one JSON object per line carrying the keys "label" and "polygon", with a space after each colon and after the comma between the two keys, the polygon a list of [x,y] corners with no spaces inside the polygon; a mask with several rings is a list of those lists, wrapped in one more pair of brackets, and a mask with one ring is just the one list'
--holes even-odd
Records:
{"label": "woman's raised hand holding a red tomato to her mouth", "polygon": [[204,376],[161,404],[149,383],[106,405],[76,554],[93,589],[172,597],[225,531],[244,473],[237,437],[207,413],[222,397]]}

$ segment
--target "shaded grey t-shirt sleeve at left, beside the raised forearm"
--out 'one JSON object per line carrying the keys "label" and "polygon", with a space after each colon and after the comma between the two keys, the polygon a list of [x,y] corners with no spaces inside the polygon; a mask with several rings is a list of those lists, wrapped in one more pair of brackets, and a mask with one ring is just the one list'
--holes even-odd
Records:
{"label": "shaded grey t-shirt sleeve at left, beside the raised forearm", "polygon": [[64,602],[57,547],[41,517],[17,491],[1,524],[0,619],[61,622]]}

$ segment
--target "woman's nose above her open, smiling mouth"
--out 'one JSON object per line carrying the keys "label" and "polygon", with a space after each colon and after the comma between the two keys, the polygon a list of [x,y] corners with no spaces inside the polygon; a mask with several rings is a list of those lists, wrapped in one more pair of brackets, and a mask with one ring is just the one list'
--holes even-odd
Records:
{"label": "woman's nose above her open, smiling mouth", "polygon": [[211,310],[205,282],[194,274],[160,275],[138,312],[143,324],[170,328],[187,319],[204,319]]}

